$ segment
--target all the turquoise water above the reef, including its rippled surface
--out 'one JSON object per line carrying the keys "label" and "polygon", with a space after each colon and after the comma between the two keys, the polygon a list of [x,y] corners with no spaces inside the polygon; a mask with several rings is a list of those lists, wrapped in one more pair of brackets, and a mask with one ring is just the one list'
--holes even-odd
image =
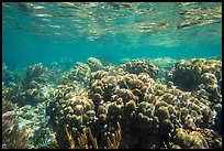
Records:
{"label": "all the turquoise water above the reef, including its rippled surface", "polygon": [[[172,57],[179,60],[211,57],[222,54],[222,18],[216,15],[214,18],[213,13],[211,13],[211,19],[216,22],[206,23],[210,20],[206,17],[204,23],[178,29],[177,26],[181,24],[181,20],[177,20],[183,18],[179,14],[180,10],[178,9],[181,8],[179,3],[149,3],[150,6],[145,6],[145,8],[144,4],[138,4],[138,10],[146,10],[148,7],[155,11],[143,14],[137,13],[137,11],[132,12],[128,9],[98,8],[94,4],[92,7],[90,3],[91,7],[87,11],[82,10],[83,6],[80,4],[79,10],[76,8],[77,11],[69,12],[75,8],[67,3],[3,3],[3,62],[10,68],[16,68],[40,62],[52,63],[61,60],[85,62],[90,56],[119,63],[120,60],[126,57]],[[195,6],[209,6],[209,9],[214,10],[221,7],[221,3],[200,4]],[[178,6],[178,9],[170,12],[169,7],[173,6]],[[190,4],[191,8],[192,6]],[[40,7],[43,8],[40,9]],[[78,15],[85,12],[87,15]],[[92,15],[89,15],[90,12],[93,12]],[[193,13],[192,17],[202,17],[201,13]],[[216,13],[219,12],[214,14]],[[57,18],[54,18],[53,14],[57,14]],[[74,17],[60,17],[59,14],[74,14]],[[112,14],[115,14],[113,17],[115,19],[111,17]],[[116,19],[116,14],[126,14],[128,18]],[[102,15],[103,19],[101,19]],[[90,19],[98,20],[91,22]],[[190,22],[191,20],[192,22],[197,21],[194,18],[187,21]],[[147,24],[150,23],[152,25],[153,21],[155,23],[163,21],[167,25],[161,26],[163,29],[155,25],[148,32]],[[138,29],[133,29],[135,24],[138,24]],[[146,24],[146,28],[144,24]],[[91,32],[94,28],[90,29],[90,26],[93,25],[99,28],[97,29],[99,34]],[[143,31],[144,28],[145,31]],[[83,32],[80,32],[82,30]],[[93,39],[91,40],[91,37]]]}

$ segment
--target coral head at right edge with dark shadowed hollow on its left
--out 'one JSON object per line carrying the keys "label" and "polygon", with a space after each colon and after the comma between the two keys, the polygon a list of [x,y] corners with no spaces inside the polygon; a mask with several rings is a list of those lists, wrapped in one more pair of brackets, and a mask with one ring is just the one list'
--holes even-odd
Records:
{"label": "coral head at right edge with dark shadowed hollow on its left", "polygon": [[[204,75],[205,74],[205,75]],[[203,75],[203,76],[202,76]],[[200,84],[222,84],[222,62],[216,60],[191,58],[180,60],[167,73],[168,80],[181,89],[192,90]]]}

